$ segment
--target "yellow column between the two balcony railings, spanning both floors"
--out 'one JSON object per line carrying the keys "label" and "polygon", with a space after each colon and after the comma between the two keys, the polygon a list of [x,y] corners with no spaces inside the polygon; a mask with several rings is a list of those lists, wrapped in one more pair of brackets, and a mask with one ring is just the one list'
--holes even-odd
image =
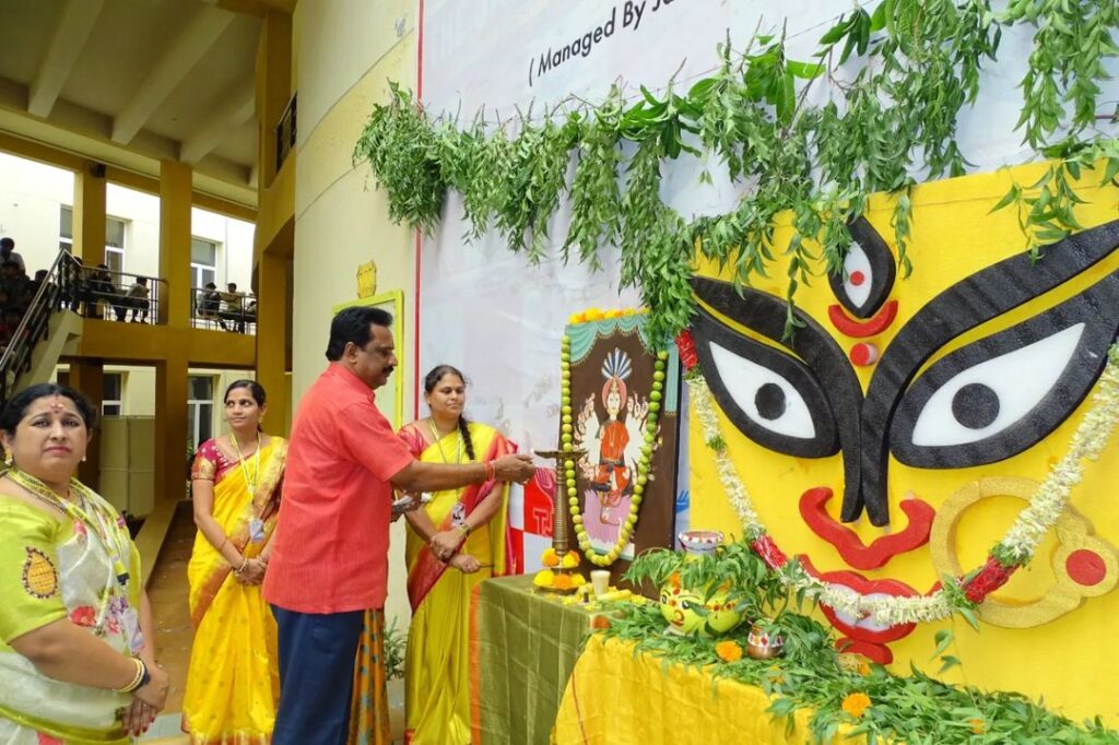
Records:
{"label": "yellow column between the two balcony railings, spanning both floors", "polygon": [[[172,332],[190,327],[191,171],[178,161],[160,162],[159,321]],[[187,345],[169,345],[156,365],[156,499],[186,496]]]}

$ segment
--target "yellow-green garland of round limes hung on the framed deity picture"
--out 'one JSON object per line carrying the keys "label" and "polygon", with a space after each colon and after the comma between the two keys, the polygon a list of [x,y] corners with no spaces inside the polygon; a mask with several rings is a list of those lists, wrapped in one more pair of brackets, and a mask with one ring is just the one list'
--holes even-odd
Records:
{"label": "yellow-green garland of round limes hung on the framed deity picture", "polygon": [[[564,334],[560,340],[561,359],[561,435],[560,442],[565,451],[575,450],[574,425],[572,419],[571,398],[571,338]],[[564,459],[564,478],[567,484],[567,504],[571,509],[571,519],[575,526],[575,538],[579,547],[583,551],[586,560],[595,566],[610,566],[618,560],[622,550],[630,543],[633,529],[637,526],[638,512],[641,509],[641,499],[645,496],[645,488],[652,472],[652,453],[659,444],[657,437],[657,421],[660,418],[660,405],[665,388],[665,367],[667,365],[668,352],[658,351],[657,360],[653,362],[652,388],[649,393],[649,415],[645,422],[645,442],[641,444],[641,458],[638,460],[637,473],[633,479],[633,493],[630,497],[630,510],[626,516],[626,522],[618,534],[618,540],[605,553],[600,553],[591,545],[591,537],[583,527],[583,512],[579,506],[579,488],[575,481],[575,459]]]}

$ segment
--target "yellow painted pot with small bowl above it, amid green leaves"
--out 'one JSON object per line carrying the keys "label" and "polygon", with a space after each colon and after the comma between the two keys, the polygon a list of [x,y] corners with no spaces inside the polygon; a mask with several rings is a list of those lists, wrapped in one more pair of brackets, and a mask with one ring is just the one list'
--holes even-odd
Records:
{"label": "yellow painted pot with small bowl above it, amid green leaves", "polygon": [[[687,550],[685,560],[713,554],[723,544],[723,534],[717,530],[686,530],[678,538]],[[721,636],[742,622],[742,615],[727,597],[730,585],[724,584],[705,601],[708,590],[681,586],[678,573],[668,578],[660,588],[660,614],[668,621],[668,631]]]}

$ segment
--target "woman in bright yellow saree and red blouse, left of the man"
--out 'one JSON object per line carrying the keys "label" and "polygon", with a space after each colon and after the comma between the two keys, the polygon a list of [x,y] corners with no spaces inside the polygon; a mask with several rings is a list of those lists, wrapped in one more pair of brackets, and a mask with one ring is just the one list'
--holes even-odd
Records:
{"label": "woman in bright yellow saree and red blouse, left of the man", "polygon": [[264,389],[225,392],[228,436],[198,447],[190,478],[195,539],[187,577],[195,643],[182,700],[194,745],[264,745],[279,700],[276,626],[261,597],[288,443],[264,434]]}

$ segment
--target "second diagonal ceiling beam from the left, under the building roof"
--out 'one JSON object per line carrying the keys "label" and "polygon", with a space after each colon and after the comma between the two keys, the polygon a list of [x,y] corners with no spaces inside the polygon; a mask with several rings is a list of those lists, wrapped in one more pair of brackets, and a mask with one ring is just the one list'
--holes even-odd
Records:
{"label": "second diagonal ceiling beam from the left, under the building roof", "polygon": [[113,121],[113,141],[128,144],[171,95],[187,73],[209,51],[233,19],[231,12],[201,7],[190,23],[152,66],[132,102]]}

